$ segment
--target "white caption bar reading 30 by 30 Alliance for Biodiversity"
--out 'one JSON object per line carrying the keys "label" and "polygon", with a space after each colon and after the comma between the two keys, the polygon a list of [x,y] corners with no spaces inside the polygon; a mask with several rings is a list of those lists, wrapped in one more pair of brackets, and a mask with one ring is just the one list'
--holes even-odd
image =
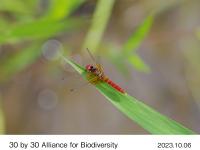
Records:
{"label": "white caption bar reading 30 by 30 Alliance for Biodiversity", "polygon": [[1,135],[1,150],[200,150],[200,135]]}

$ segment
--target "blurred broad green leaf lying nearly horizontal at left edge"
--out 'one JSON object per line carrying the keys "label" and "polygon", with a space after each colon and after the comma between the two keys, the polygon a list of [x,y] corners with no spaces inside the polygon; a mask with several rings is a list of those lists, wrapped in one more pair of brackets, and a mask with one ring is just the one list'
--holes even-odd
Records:
{"label": "blurred broad green leaf lying nearly horizontal at left edge", "polygon": [[72,30],[82,23],[82,19],[67,19],[66,21],[37,20],[18,24],[1,33],[0,43],[18,42],[29,39],[51,37],[63,30]]}

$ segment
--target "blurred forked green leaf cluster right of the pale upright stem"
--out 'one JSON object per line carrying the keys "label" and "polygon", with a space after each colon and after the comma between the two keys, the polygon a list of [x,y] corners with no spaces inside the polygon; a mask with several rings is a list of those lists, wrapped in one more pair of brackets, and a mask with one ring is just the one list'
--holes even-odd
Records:
{"label": "blurred forked green leaf cluster right of the pale upright stem", "polygon": [[113,47],[110,45],[109,52],[107,53],[108,58],[118,68],[118,70],[128,75],[128,67],[126,64],[130,64],[134,69],[142,72],[149,72],[150,68],[144,63],[140,56],[136,53],[136,50],[144,41],[148,35],[151,26],[153,24],[154,16],[149,15],[145,20],[138,26],[138,28],[131,34],[131,36],[124,43],[122,48]]}

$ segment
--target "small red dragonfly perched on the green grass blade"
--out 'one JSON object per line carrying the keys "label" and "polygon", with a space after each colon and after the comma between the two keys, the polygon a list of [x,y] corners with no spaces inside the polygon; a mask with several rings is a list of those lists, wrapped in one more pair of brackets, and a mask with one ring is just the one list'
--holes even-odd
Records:
{"label": "small red dragonfly perched on the green grass blade", "polygon": [[88,64],[86,65],[85,69],[87,72],[87,78],[89,79],[89,83],[91,84],[97,84],[99,83],[99,81],[103,81],[108,83],[111,87],[113,87],[114,89],[116,89],[117,91],[125,94],[125,91],[116,83],[114,83],[112,80],[110,80],[103,71],[102,66],[99,63],[96,63],[93,55],[91,54],[91,52],[89,51],[89,49],[87,49],[90,57],[93,59],[93,61],[95,62],[95,65],[91,65]]}

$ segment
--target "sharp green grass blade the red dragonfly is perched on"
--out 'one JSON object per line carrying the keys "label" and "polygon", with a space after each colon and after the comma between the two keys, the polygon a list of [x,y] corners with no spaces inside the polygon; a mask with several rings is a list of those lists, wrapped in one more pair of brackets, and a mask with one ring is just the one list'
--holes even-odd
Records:
{"label": "sharp green grass blade the red dragonfly is perched on", "polygon": [[[85,78],[83,67],[63,56],[62,58]],[[95,86],[123,114],[152,134],[195,134],[192,130],[160,114],[136,98],[121,94],[107,83]]]}

